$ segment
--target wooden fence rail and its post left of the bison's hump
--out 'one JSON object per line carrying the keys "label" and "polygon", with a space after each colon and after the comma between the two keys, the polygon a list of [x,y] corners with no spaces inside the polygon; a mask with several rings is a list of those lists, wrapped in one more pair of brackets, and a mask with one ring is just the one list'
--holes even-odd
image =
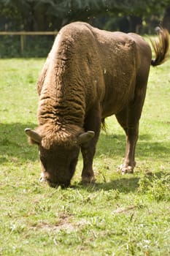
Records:
{"label": "wooden fence rail and its post left of the bison's hump", "polygon": [[20,36],[20,51],[23,50],[26,45],[26,36],[56,36],[58,31],[0,31],[0,36]]}

